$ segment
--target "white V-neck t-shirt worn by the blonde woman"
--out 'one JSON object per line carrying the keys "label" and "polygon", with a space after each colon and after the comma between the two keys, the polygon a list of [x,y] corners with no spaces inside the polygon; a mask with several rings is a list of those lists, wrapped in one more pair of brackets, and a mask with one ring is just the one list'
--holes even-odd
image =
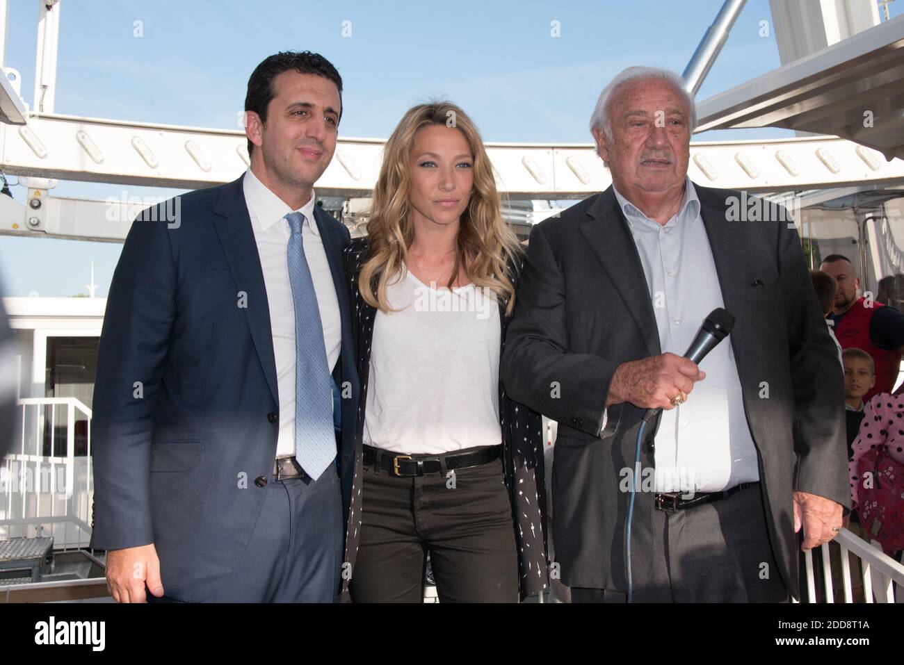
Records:
{"label": "white V-neck t-shirt worn by the blonde woman", "polygon": [[373,322],[363,442],[401,454],[499,445],[499,307],[473,284],[391,280]]}

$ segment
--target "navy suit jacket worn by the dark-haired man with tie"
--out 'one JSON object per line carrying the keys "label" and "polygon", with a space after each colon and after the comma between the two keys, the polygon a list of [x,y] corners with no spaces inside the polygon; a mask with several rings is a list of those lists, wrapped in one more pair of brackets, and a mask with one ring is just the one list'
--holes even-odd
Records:
{"label": "navy suit jacket worn by the dark-haired man with tie", "polygon": [[[258,521],[279,400],[242,178],[178,199],[133,222],[110,286],[93,401],[91,544],[154,543],[166,595],[202,601],[229,579]],[[167,222],[166,211],[178,219]],[[349,233],[317,207],[315,220],[342,318],[333,376],[343,397],[336,450],[346,523],[358,403],[342,254]]]}

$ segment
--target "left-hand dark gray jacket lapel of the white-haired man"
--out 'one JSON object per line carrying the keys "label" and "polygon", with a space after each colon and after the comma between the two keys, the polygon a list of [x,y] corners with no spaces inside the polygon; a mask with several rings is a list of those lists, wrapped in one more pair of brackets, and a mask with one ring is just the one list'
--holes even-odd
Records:
{"label": "left-hand dark gray jacket lapel of the white-haired man", "polygon": [[646,287],[644,267],[611,187],[599,194],[587,214],[591,219],[580,225],[581,232],[625,301],[650,355],[659,355],[662,352],[659,329]]}

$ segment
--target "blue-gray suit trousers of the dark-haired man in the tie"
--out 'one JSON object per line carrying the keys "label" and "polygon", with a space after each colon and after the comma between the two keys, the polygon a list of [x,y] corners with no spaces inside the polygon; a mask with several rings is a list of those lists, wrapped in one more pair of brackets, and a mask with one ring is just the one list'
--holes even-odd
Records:
{"label": "blue-gray suit trousers of the dark-haired man in the tie", "polygon": [[210,602],[336,603],[342,553],[335,464],[316,482],[271,478],[248,549]]}

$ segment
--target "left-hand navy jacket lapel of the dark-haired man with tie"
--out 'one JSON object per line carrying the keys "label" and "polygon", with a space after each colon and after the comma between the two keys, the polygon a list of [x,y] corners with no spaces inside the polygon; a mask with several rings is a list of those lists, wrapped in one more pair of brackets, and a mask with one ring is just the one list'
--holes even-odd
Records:
{"label": "left-hand navy jacket lapel of the dark-haired man with tie", "polygon": [[[244,177],[244,176],[242,176]],[[277,364],[273,355],[273,333],[270,329],[270,308],[267,287],[264,285],[264,271],[260,267],[258,243],[254,239],[242,178],[223,186],[220,200],[213,213],[213,228],[226,255],[226,260],[235,282],[236,290],[247,295],[245,317],[251,331],[251,340],[258,351],[260,366],[264,370],[267,384],[274,401],[279,404],[277,389]],[[237,296],[238,297],[238,296]]]}

